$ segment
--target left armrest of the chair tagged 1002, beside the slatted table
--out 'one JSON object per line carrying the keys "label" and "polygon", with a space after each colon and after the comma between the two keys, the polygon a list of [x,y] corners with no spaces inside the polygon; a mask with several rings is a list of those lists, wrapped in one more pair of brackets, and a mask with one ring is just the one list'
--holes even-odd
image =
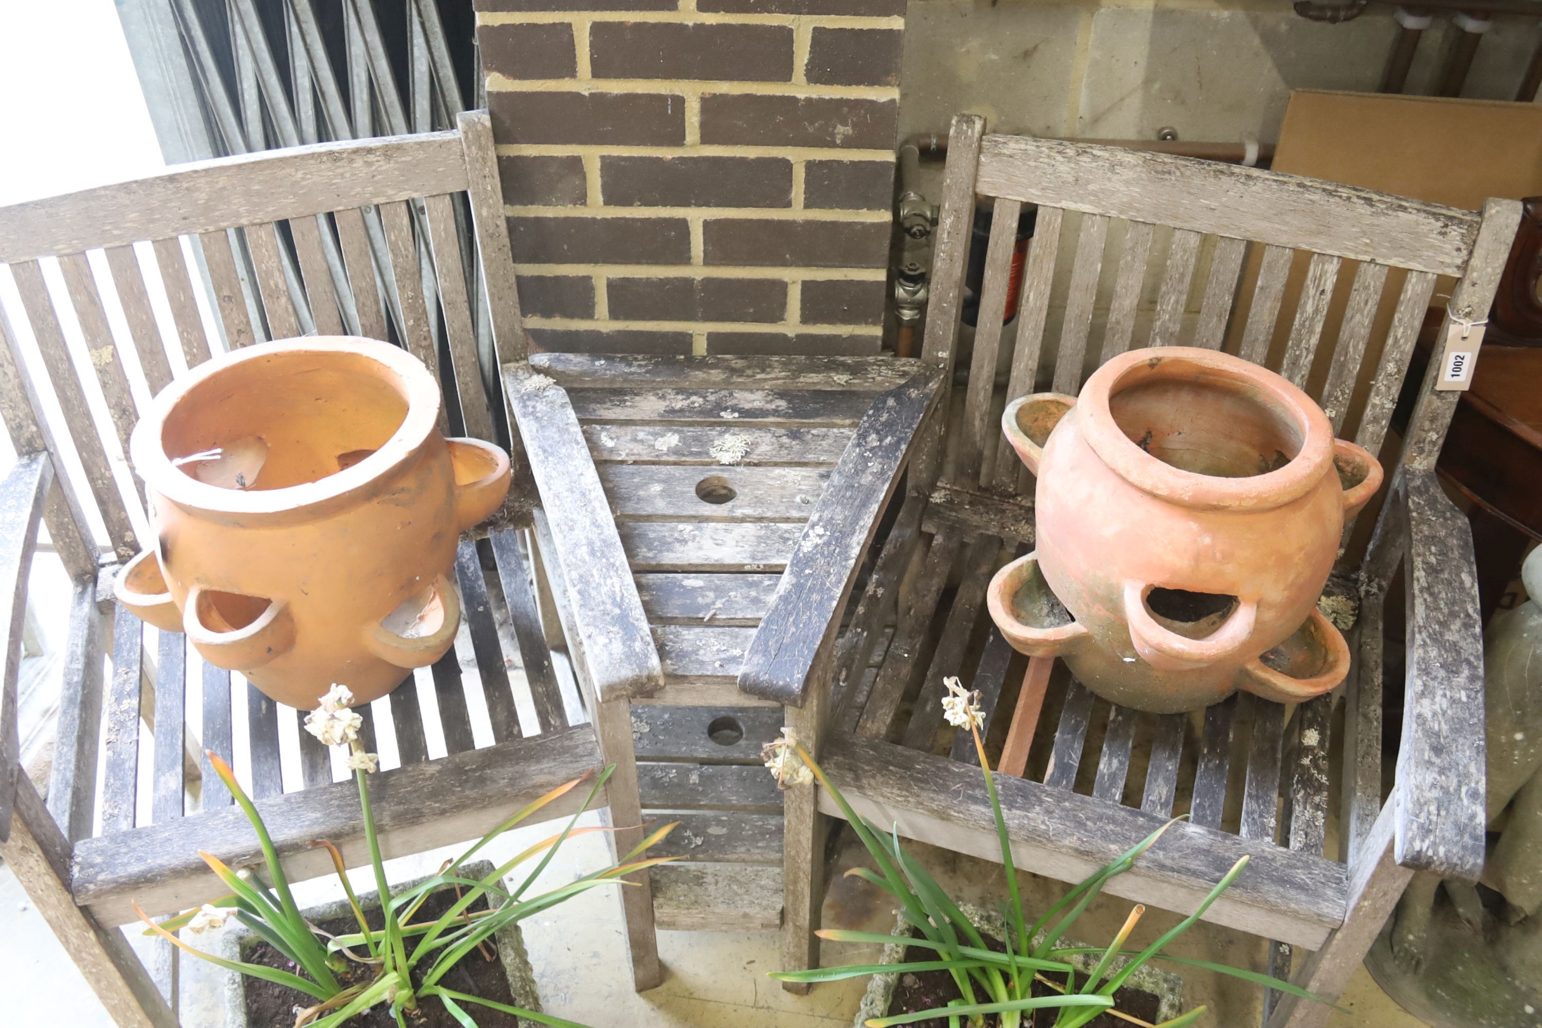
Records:
{"label": "left armrest of the chair tagged 1002, beside the slatted table", "polygon": [[862,553],[942,396],[941,384],[941,368],[927,367],[880,393],[864,415],[749,643],[739,669],[742,690],[783,706],[806,701],[817,658],[834,643]]}

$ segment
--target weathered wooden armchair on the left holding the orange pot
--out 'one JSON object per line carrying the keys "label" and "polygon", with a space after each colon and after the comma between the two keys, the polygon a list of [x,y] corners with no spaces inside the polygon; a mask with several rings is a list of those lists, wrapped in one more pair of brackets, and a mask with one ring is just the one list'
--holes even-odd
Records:
{"label": "weathered wooden armchair on the left holding the orange pot", "polygon": [[[126,450],[145,396],[171,381],[180,362],[168,359],[168,350],[180,348],[188,365],[217,350],[205,338],[194,294],[199,273],[185,254],[202,256],[228,347],[302,330],[387,339],[390,328],[443,373],[453,433],[507,442],[495,358],[487,353],[478,362],[478,290],[466,276],[470,247],[486,257],[489,305],[481,314],[490,314],[490,341],[523,356],[523,327],[487,117],[463,114],[460,123],[460,133],[185,165],[0,210],[0,262],[15,277],[39,347],[34,358],[17,325],[0,322],[0,415],[20,455],[0,482],[0,855],[120,1025],[174,1023],[145,969],[111,931],[134,920],[130,902],[162,915],[221,895],[225,889],[199,849],[233,866],[259,860],[245,818],[199,757],[210,747],[231,758],[233,724],[245,724],[248,781],[291,877],[330,872],[325,851],[308,848],[316,838],[338,843],[352,866],[367,860],[356,789],[347,778],[335,783],[328,752],[305,732],[298,732],[302,780],[285,780],[279,740],[293,738],[290,714],[281,717],[250,687],[233,700],[230,674],[207,664],[199,672],[182,635],[160,633],[146,646],[140,621],[123,609],[113,612],[113,573],[145,546],[136,527],[140,493],[116,458]],[[475,214],[475,236],[466,228],[461,193]],[[153,247],[136,253],[142,240]],[[126,334],[113,331],[111,294],[99,291],[93,276],[86,254],[99,248]],[[237,274],[245,256],[254,270],[250,297]],[[52,259],[68,299],[56,301],[46,285]],[[145,274],[151,264],[163,296],[156,276]],[[157,324],[162,302],[174,334]],[[60,322],[71,319],[86,353],[66,344]],[[443,325],[443,345],[435,342],[435,324]],[[105,398],[108,421],[93,418],[88,391]],[[72,461],[83,478],[65,476]],[[76,492],[72,481],[88,489]],[[546,638],[555,637],[555,623],[543,627],[521,549],[521,526],[529,526],[529,507],[538,502],[529,479],[517,479],[506,510],[461,541],[456,573],[469,646],[461,661],[452,650],[432,667],[432,703],[421,706],[409,681],[375,704],[375,714],[389,718],[362,711],[370,749],[390,735],[399,754],[401,766],[382,771],[375,784],[387,855],[475,838],[523,803],[601,764],[577,700],[564,703]],[[39,519],[74,578],[46,803],[17,771],[15,675]],[[105,526],[106,552],[96,543],[97,524]],[[614,556],[606,550],[609,544],[618,553],[614,539],[611,530],[589,547],[597,558]],[[588,649],[604,646],[600,640]],[[518,704],[523,690],[510,686],[507,670],[515,660],[529,683],[529,701]],[[480,687],[467,690],[463,670]],[[490,738],[473,738],[469,703],[486,706]],[[592,712],[592,700],[586,703]],[[185,717],[190,707],[200,712],[197,740]],[[153,726],[153,757],[140,751],[140,718]],[[142,761],[153,763],[150,795],[139,795]],[[202,809],[193,812],[187,794],[199,786]],[[631,798],[620,795],[628,788]],[[635,775],[611,786],[609,800],[620,825],[637,825]],[[572,809],[561,806],[547,812]],[[649,985],[658,979],[651,911],[628,912],[635,977]]]}

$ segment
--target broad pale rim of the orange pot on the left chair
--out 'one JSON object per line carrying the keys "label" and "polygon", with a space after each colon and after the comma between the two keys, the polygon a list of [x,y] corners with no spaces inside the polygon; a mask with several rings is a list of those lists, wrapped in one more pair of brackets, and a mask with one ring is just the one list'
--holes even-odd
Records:
{"label": "broad pale rim of the orange pot on the left chair", "polygon": [[[171,462],[162,442],[162,430],[171,412],[193,390],[250,361],[271,359],[276,354],[304,353],[364,356],[395,376],[392,385],[402,391],[407,401],[407,415],[381,448],[353,467],[313,482],[250,492],[200,482],[191,475],[185,475]],[[429,368],[418,358],[389,342],[361,336],[279,339],[244,347],[214,361],[205,361],[163,388],[156,396],[150,412],[134,425],[134,433],[130,438],[130,455],[134,461],[134,470],[145,479],[145,484],[180,507],[227,515],[293,513],[318,504],[344,499],[350,493],[399,469],[412,459],[435,432],[439,418],[439,384]]]}

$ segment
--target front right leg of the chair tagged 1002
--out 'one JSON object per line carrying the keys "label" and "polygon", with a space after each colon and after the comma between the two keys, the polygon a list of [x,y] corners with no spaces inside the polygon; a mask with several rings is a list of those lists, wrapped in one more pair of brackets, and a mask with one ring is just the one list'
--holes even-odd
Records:
{"label": "front right leg of the chair tagged 1002", "polygon": [[[1349,985],[1349,979],[1365,960],[1371,943],[1375,942],[1382,925],[1397,908],[1397,900],[1414,875],[1408,868],[1400,868],[1392,857],[1396,801],[1394,794],[1349,865],[1349,914],[1345,923],[1291,976],[1291,982],[1329,1003],[1337,1002],[1338,994]],[[1325,1003],[1281,996],[1268,1028],[1323,1028],[1328,1023],[1328,1013]]]}

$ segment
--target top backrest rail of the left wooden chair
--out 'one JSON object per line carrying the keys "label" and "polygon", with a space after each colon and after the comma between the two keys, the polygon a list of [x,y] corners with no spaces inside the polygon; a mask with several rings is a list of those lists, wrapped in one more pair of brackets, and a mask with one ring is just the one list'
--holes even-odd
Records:
{"label": "top backrest rail of the left wooden chair", "polygon": [[466,163],[456,133],[173,165],[140,179],[0,208],[0,262],[464,188]]}

